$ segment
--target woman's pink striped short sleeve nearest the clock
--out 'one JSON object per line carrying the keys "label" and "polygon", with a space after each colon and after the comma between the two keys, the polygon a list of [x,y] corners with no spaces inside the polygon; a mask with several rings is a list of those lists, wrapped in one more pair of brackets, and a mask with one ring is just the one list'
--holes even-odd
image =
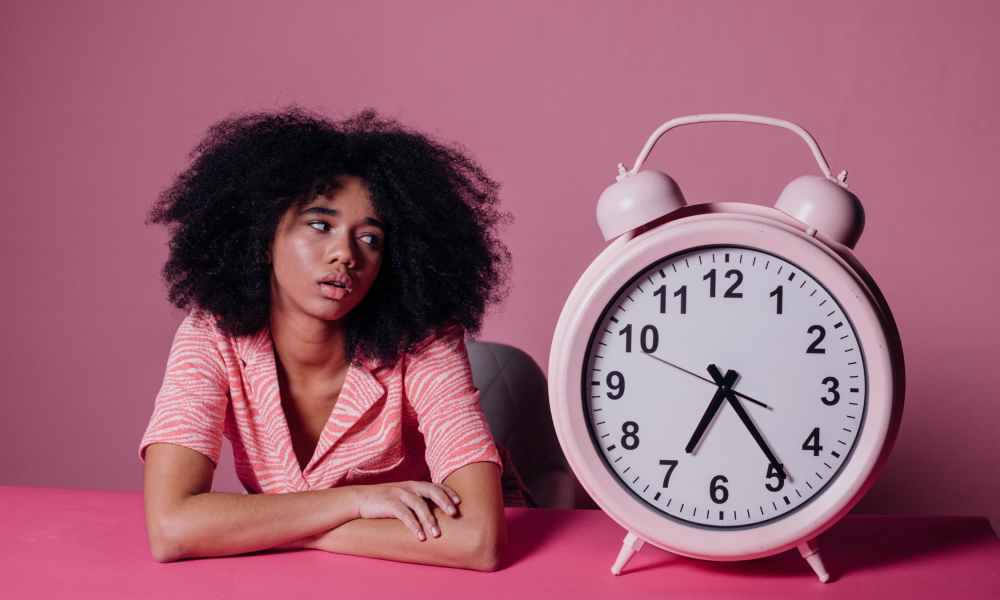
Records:
{"label": "woman's pink striped short sleeve nearest the clock", "polygon": [[472,383],[462,327],[444,329],[418,346],[408,356],[403,385],[424,436],[431,481],[442,483],[474,462],[492,462],[503,470]]}

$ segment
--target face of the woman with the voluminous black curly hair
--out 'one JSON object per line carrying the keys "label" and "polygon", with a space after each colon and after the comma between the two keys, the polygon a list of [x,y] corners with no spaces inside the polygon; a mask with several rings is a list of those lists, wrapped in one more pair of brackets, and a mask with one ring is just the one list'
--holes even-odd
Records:
{"label": "face of the woman with the voluminous black curly hair", "polygon": [[341,182],[332,196],[292,207],[278,223],[271,246],[271,300],[279,310],[341,319],[378,276],[385,228],[364,182],[358,177]]}

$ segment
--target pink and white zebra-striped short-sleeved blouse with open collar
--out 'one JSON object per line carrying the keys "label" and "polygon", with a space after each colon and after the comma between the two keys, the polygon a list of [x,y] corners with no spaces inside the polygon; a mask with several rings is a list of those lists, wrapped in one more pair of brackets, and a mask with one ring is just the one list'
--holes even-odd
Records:
{"label": "pink and white zebra-striped short-sleeved blouse with open collar", "polygon": [[428,337],[393,368],[352,364],[303,470],[281,406],[270,331],[231,337],[204,313],[192,312],[174,335],[139,460],[145,462],[149,444],[170,442],[217,465],[222,436],[248,493],[441,483],[469,463],[504,467],[458,326]]}

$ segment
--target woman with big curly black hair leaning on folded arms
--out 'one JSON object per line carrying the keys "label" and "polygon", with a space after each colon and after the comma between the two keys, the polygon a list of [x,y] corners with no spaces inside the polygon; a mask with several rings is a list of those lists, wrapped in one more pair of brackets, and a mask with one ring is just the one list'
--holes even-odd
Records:
{"label": "woman with big curly black hair leaning on folded arms", "polygon": [[[190,309],[139,447],[153,556],[496,569],[511,465],[464,332],[506,293],[498,185],[370,110],[225,119],[192,159],[150,214]],[[249,494],[210,492],[223,435]]]}

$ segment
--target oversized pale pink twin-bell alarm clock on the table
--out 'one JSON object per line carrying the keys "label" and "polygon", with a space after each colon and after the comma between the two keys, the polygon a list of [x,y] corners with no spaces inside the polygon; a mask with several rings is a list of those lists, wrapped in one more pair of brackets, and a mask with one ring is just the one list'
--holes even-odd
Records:
{"label": "oversized pale pink twin-bell alarm clock on the table", "polygon": [[[687,205],[639,170],[682,125],[782,127],[823,176],[774,208]],[[643,543],[709,560],[798,548],[821,581],[816,538],[875,480],[903,408],[889,307],[851,253],[864,210],[816,141],[770,117],[708,114],[661,125],[597,204],[610,244],[574,286],[549,360],[552,417],[583,487]]]}

